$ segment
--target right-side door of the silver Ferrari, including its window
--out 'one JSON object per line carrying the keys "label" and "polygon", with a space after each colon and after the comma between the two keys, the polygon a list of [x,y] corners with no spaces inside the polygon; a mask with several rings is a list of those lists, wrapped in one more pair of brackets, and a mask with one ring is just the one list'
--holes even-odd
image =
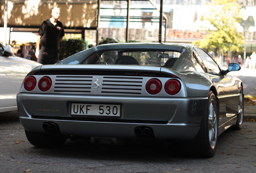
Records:
{"label": "right-side door of the silver Ferrari, including its window", "polygon": [[[237,84],[235,80],[232,80],[231,76],[224,76],[221,72],[218,64],[209,56],[204,50],[200,48],[195,48],[199,56],[204,62],[209,77],[212,78],[215,83],[219,95],[217,96],[219,100],[219,126],[225,124],[237,113],[237,105],[239,101],[239,95],[237,90]],[[222,127],[225,129],[225,127]]]}

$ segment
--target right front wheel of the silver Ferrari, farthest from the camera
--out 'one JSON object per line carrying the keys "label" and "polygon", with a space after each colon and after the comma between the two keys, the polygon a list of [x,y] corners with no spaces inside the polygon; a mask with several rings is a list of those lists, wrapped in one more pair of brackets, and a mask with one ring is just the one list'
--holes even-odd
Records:
{"label": "right front wheel of the silver Ferrari, farthest from the camera", "polygon": [[239,90],[239,104],[237,108],[237,121],[236,124],[232,127],[233,130],[240,130],[243,126],[244,120],[244,91],[241,87]]}

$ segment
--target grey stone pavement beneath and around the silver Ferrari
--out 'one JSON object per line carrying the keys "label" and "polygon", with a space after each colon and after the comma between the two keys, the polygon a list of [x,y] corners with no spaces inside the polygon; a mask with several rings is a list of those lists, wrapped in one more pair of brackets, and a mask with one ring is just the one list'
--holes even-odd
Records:
{"label": "grey stone pavement beneath and around the silver Ferrari", "polygon": [[255,173],[256,122],[220,135],[217,151],[202,159],[181,155],[176,145],[89,145],[68,140],[62,147],[34,147],[19,119],[0,116],[0,172],[18,173]]}

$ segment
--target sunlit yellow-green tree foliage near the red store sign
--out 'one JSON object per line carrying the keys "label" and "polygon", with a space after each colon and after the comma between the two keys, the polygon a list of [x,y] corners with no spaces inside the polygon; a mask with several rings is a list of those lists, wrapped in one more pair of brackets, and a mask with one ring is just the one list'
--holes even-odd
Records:
{"label": "sunlit yellow-green tree foliage near the red store sign", "polygon": [[[204,49],[213,50],[220,48],[224,52],[243,50],[244,36],[235,27],[242,19],[241,7],[237,0],[213,0],[209,14],[202,18],[208,20],[214,27],[211,34],[202,40],[197,40],[192,44]],[[210,29],[209,29],[210,30]]]}

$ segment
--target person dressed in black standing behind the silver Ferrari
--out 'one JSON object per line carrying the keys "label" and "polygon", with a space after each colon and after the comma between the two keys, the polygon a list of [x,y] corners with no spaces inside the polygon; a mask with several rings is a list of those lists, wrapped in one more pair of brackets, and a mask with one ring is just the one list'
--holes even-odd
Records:
{"label": "person dressed in black standing behind the silver Ferrari", "polygon": [[51,18],[43,21],[38,31],[35,56],[41,64],[55,64],[59,61],[59,46],[65,34],[62,22],[58,21],[60,9],[52,8],[51,15]]}

